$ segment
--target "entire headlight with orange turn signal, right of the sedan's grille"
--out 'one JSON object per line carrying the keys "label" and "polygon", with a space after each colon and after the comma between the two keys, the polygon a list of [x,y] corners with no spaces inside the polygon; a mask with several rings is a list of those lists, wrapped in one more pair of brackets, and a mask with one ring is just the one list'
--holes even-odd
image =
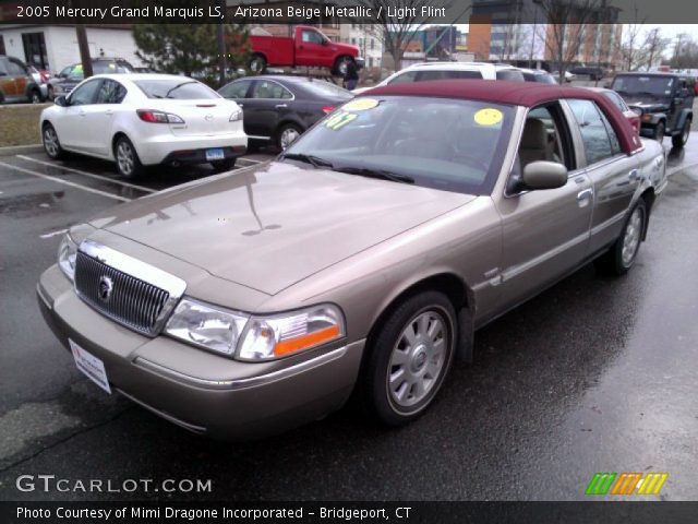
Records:
{"label": "entire headlight with orange turn signal, right of the sedan's grille", "polygon": [[332,305],[290,313],[250,317],[191,298],[174,309],[165,332],[195,346],[240,360],[273,360],[345,335],[344,317]]}

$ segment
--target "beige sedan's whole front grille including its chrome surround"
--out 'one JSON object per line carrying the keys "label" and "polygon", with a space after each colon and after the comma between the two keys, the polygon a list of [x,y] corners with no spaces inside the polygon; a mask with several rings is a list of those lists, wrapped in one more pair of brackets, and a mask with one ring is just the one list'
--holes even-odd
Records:
{"label": "beige sedan's whole front grille including its chrome surround", "polygon": [[[113,283],[106,301],[99,297],[103,277]],[[84,240],[77,249],[77,296],[105,317],[144,335],[160,333],[185,288],[181,278],[93,240]]]}

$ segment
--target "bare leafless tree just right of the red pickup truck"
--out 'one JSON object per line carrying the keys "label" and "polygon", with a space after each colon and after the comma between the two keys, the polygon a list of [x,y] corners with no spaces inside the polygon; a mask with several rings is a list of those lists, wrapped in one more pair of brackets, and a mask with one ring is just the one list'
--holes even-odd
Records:
{"label": "bare leafless tree just right of the red pickup truck", "polygon": [[422,7],[448,9],[452,5],[444,0],[357,0],[357,4],[381,13],[375,23],[383,48],[393,57],[395,69],[400,68],[405,49],[424,26]]}

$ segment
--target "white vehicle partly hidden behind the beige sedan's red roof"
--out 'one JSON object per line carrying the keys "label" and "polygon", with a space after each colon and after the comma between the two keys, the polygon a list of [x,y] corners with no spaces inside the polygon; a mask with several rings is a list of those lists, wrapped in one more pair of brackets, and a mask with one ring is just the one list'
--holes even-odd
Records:
{"label": "white vehicle partly hidden behind the beige sedan's red roof", "polygon": [[401,84],[406,82],[423,82],[428,80],[512,80],[524,82],[524,73],[508,64],[485,62],[421,62],[405,68],[371,87],[359,87],[352,93],[359,94],[374,87]]}

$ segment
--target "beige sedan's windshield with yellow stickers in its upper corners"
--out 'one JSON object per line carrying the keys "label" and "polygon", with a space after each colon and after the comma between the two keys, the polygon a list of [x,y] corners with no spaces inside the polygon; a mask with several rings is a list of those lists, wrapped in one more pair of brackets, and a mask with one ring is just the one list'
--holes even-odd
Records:
{"label": "beige sedan's windshield with yellow stickers in its upper corners", "polygon": [[351,176],[489,194],[513,117],[510,106],[484,102],[360,97],[305,132],[280,158]]}

